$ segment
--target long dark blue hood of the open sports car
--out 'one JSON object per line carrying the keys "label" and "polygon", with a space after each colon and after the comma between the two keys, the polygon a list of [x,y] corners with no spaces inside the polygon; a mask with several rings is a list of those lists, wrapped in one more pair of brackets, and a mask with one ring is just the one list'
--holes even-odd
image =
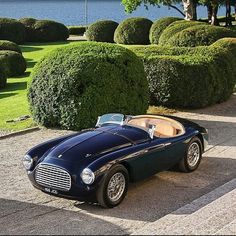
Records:
{"label": "long dark blue hood of the open sports car", "polygon": [[82,132],[53,147],[45,160],[60,159],[89,164],[101,155],[143,142],[147,132],[130,126],[107,126]]}

